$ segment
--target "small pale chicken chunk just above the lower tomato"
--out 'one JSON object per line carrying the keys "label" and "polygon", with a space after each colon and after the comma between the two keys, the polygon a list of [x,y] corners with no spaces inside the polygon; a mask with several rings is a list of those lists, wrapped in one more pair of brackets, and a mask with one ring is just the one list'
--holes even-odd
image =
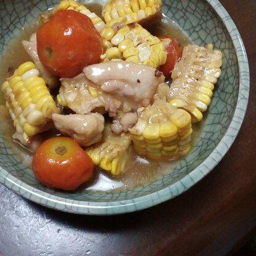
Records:
{"label": "small pale chicken chunk just above the lower tomato", "polygon": [[52,114],[52,120],[60,132],[73,137],[82,146],[92,145],[102,139],[104,118],[101,114]]}

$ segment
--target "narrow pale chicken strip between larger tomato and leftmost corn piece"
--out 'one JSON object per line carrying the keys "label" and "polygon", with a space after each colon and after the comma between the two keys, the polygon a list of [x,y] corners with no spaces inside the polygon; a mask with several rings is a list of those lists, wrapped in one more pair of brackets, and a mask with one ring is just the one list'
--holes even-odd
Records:
{"label": "narrow pale chicken strip between larger tomato and leftmost corn piece", "polygon": [[38,57],[38,50],[36,49],[36,33],[31,35],[30,41],[22,41],[23,47],[25,48],[26,52],[32,58],[34,65],[38,68],[39,72],[41,73],[42,78],[46,81],[46,84],[50,89],[58,87],[60,81],[57,76],[50,73],[49,70],[42,64]]}

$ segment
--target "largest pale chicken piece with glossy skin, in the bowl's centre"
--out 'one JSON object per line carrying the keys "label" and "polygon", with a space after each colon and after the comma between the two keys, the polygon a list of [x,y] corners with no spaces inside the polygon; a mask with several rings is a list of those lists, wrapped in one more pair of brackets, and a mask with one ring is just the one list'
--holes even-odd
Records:
{"label": "largest pale chicken piece with glossy skin, in the bowl's centre", "polygon": [[110,116],[150,105],[164,83],[163,74],[155,68],[124,61],[90,65],[83,72],[105,93],[105,109]]}

